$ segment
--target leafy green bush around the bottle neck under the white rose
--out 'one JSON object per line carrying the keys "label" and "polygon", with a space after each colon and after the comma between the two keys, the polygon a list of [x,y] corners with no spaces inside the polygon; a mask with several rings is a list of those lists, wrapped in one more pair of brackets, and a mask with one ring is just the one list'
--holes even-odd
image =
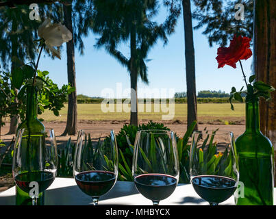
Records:
{"label": "leafy green bush around the bottle neck under the white rose", "polygon": [[[25,68],[32,68],[31,66]],[[17,68],[16,68],[17,69]],[[32,68],[33,69],[33,68]],[[34,70],[34,69],[33,69]],[[32,71],[29,69],[29,71]],[[23,73],[21,71],[21,73]],[[30,76],[31,74],[29,74]],[[42,114],[45,109],[51,110],[55,116],[59,116],[59,111],[64,107],[68,94],[71,94],[75,88],[70,84],[63,85],[62,88],[58,88],[58,85],[53,83],[49,78],[49,72],[38,70],[36,76],[36,83],[34,86],[38,88],[38,114]],[[3,105],[0,110],[1,116],[13,116],[19,115],[21,120],[25,119],[26,104],[27,104],[27,86],[32,86],[33,79],[29,79],[29,76],[24,76],[24,81],[21,84],[21,89],[18,94],[13,89],[12,83],[14,79],[10,77],[9,73],[0,74],[0,105]],[[14,86],[15,87],[15,86]],[[17,99],[17,103],[15,103]],[[3,109],[3,110],[2,110]]]}

